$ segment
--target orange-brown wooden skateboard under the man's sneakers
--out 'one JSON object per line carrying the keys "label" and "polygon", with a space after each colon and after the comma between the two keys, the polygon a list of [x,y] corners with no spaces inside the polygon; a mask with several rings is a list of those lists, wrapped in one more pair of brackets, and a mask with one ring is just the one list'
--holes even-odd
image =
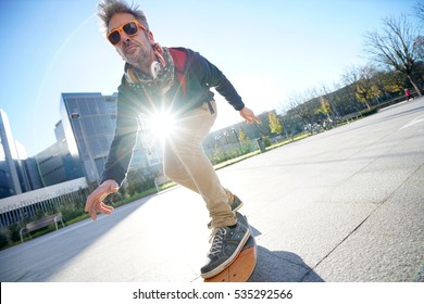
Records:
{"label": "orange-brown wooden skateboard under the man's sneakers", "polygon": [[[245,216],[236,213],[237,219],[246,225]],[[253,233],[250,229],[250,237],[242,246],[237,257],[229,264],[224,270],[212,278],[204,279],[203,282],[246,282],[254,270],[257,265],[257,242],[254,241]]]}

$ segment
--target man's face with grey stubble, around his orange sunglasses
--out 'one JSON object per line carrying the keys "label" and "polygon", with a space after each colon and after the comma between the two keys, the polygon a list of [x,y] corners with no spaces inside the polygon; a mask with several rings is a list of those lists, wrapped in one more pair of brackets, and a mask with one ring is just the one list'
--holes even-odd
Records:
{"label": "man's face with grey stubble, around his orange sunglasses", "polygon": [[[109,31],[120,28],[123,24],[134,21],[132,14],[119,13],[115,14],[109,22]],[[120,30],[121,41],[115,46],[117,53],[129,64],[140,68],[141,71],[149,71],[151,62],[154,60],[152,43],[154,43],[153,36],[138,28],[136,35],[127,35],[124,30]]]}

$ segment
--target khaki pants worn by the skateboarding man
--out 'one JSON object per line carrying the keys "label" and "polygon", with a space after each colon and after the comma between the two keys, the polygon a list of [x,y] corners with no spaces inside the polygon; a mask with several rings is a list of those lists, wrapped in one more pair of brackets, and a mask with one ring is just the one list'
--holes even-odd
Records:
{"label": "khaki pants worn by the skateboarding man", "polygon": [[216,119],[204,103],[178,118],[172,135],[165,140],[163,170],[175,182],[199,193],[209,210],[213,227],[232,226],[236,219],[229,207],[233,195],[221,186],[220,179],[204,154],[202,141]]}

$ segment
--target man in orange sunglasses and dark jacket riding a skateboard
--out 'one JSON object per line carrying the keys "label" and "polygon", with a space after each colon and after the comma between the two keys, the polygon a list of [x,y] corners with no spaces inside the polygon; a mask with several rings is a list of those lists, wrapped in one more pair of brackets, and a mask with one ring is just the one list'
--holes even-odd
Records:
{"label": "man in orange sunglasses and dark jacket riding a skateboard", "polygon": [[161,111],[176,118],[176,131],[164,144],[164,174],[198,192],[212,218],[212,246],[201,267],[203,278],[213,277],[229,265],[250,236],[237,223],[234,211],[242,202],[223,188],[201,142],[215,118],[214,87],[247,123],[260,123],[223,73],[199,53],[184,48],[162,48],[154,41],[146,15],[123,0],[104,0],[98,7],[108,40],[124,59],[125,74],[117,93],[114,139],[102,182],[87,198],[86,212],[96,220],[97,212],[113,208],[103,199],[116,192],[126,177],[138,131],[139,114]]}

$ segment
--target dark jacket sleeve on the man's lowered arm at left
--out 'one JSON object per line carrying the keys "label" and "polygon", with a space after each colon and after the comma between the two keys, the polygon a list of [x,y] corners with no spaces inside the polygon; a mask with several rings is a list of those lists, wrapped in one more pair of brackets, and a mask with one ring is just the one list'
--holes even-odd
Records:
{"label": "dark jacket sleeve on the man's lowered arm at left", "polygon": [[138,116],[130,107],[125,90],[119,89],[115,135],[104,165],[102,181],[114,179],[120,186],[126,178],[137,142]]}

